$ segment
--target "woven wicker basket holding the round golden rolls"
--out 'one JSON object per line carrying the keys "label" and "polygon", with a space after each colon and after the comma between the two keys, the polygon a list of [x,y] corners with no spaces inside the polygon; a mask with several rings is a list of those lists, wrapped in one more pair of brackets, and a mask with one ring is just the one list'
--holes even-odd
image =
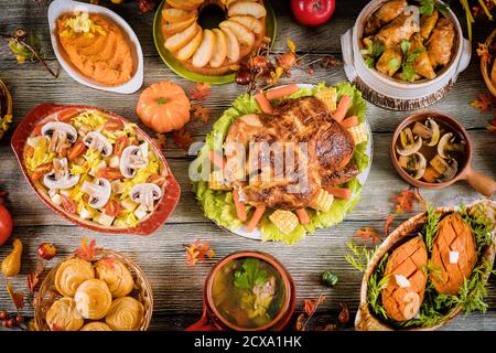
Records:
{"label": "woven wicker basket holding the round golden rolls", "polygon": [[[68,260],[71,258],[74,258],[75,255],[72,255],[67,257],[65,260]],[[147,278],[147,275],[143,272],[143,270],[134,264],[132,260],[130,260],[128,257],[123,256],[120,253],[114,252],[114,250],[100,250],[98,253],[98,256],[96,260],[101,259],[104,257],[112,257],[117,260],[121,261],[123,265],[126,265],[129,270],[131,271],[132,278],[134,279],[134,289],[129,295],[130,297],[133,297],[134,299],[138,299],[144,308],[144,315],[143,321],[141,322],[141,325],[139,328],[139,331],[147,331],[148,327],[150,325],[150,321],[153,313],[153,291],[150,285],[149,279]],[[96,261],[95,260],[95,261]],[[50,328],[46,323],[45,315],[50,307],[52,307],[53,302],[63,296],[58,293],[58,291],[55,289],[55,274],[61,266],[63,261],[60,261],[45,277],[43,280],[40,291],[37,292],[35,299],[34,299],[34,320],[36,322],[36,328],[39,331],[50,331]],[[95,263],[93,261],[93,263]],[[85,322],[86,323],[86,322]]]}

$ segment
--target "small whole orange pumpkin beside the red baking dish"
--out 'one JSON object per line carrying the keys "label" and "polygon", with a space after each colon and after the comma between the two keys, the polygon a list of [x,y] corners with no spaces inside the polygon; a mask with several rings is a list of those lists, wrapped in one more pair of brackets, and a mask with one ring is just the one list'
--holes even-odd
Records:
{"label": "small whole orange pumpkin beside the red baking dish", "polygon": [[162,81],[144,89],[136,111],[141,121],[155,132],[179,130],[190,121],[191,104],[181,86]]}

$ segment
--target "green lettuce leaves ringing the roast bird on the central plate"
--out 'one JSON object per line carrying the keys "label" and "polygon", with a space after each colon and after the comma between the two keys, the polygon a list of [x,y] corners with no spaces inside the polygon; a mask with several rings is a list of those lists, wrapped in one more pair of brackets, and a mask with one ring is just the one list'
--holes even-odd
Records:
{"label": "green lettuce leaves ringing the roast bird on the central plate", "polygon": [[[319,92],[327,88],[324,83],[316,86],[303,87],[296,93],[288,97],[288,99],[295,99],[305,96],[313,96]],[[344,95],[352,97],[352,106],[348,115],[355,115],[362,124],[365,121],[366,103],[362,97],[362,93],[349,83],[338,83],[335,86],[337,90],[337,99]],[[240,116],[246,114],[260,113],[260,109],[254,96],[244,94],[240,95],[233,103],[233,107],[225,110],[220,118],[214,124],[214,127],[205,139],[205,146],[200,150],[198,157],[192,162],[191,170],[202,172],[201,165],[209,158],[212,150],[223,151],[223,145],[230,124]],[[369,137],[371,138],[371,137]],[[356,146],[353,156],[354,162],[358,171],[364,171],[368,165],[369,157],[366,153],[367,142]],[[207,175],[204,175],[207,176]],[[207,178],[202,178],[200,181],[193,181],[193,192],[201,204],[206,217],[213,220],[219,226],[228,229],[237,229],[242,224],[236,216],[236,207],[233,201],[231,192],[214,191],[208,188]],[[282,233],[270,220],[271,211],[266,212],[260,220],[259,228],[262,240],[281,240],[287,244],[294,244],[301,240],[308,233],[314,233],[317,228],[328,227],[343,221],[346,213],[351,212],[360,197],[362,184],[357,178],[353,178],[349,182],[342,185],[349,188],[353,191],[351,200],[335,199],[328,212],[319,212],[308,210],[311,222],[306,225],[300,224],[292,233]],[[251,216],[254,207],[247,208],[248,218]]]}

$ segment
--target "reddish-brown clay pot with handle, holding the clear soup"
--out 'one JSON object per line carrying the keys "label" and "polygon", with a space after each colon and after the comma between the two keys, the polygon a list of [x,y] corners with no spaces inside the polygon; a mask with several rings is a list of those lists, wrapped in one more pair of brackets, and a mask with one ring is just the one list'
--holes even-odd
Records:
{"label": "reddish-brown clay pot with handle, holding the clear soup", "polygon": [[[267,325],[256,328],[256,329],[245,329],[240,327],[236,327],[226,319],[222,317],[218,310],[215,308],[213,296],[212,296],[212,286],[214,282],[215,276],[222,269],[222,267],[228,264],[231,260],[238,258],[258,258],[270,264],[281,275],[282,282],[285,286],[285,300],[282,306],[280,313]],[[208,274],[205,286],[203,290],[203,314],[202,318],[186,328],[185,331],[281,331],[290,321],[295,307],[295,287],[294,281],[291,278],[291,275],[281,265],[274,257],[269,254],[261,252],[238,252],[227,255],[223,259],[220,259]]]}

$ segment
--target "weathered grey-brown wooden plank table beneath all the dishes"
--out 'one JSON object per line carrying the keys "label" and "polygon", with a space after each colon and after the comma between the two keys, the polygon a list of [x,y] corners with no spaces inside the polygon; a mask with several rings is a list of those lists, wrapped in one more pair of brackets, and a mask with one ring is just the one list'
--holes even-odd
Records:
{"label": "weathered grey-brown wooden plank table beneath all the dishes", "polygon": [[[109,1],[105,2],[108,4]],[[273,52],[285,52],[285,39],[291,38],[299,53],[309,53],[308,60],[330,54],[339,58],[339,36],[353,26],[355,18],[366,1],[337,2],[337,9],[331,22],[317,29],[306,29],[293,21],[288,1],[272,1],[278,18]],[[34,30],[41,36],[47,62],[56,66],[57,62],[50,44],[47,4],[46,0],[23,0],[15,3],[1,1],[0,32],[9,33],[18,26]],[[143,88],[162,79],[173,81],[185,89],[193,86],[193,83],[172,73],[158,55],[152,38],[152,13],[141,14],[137,3],[131,0],[126,0],[120,6],[110,6],[110,8],[129,22],[141,42],[144,55]],[[460,14],[460,9],[457,10]],[[461,19],[464,22],[464,18]],[[494,23],[478,23],[474,43],[487,36],[492,28]],[[496,178],[496,136],[485,130],[490,115],[481,114],[470,106],[470,101],[475,99],[477,94],[486,92],[478,63],[478,58],[474,55],[468,68],[460,75],[455,87],[441,101],[433,105],[432,109],[457,118],[466,127],[474,141],[474,169]],[[41,103],[88,104],[114,110],[130,120],[138,121],[134,107],[141,90],[133,95],[95,90],[76,83],[64,71],[57,79],[54,79],[41,64],[19,65],[6,43],[0,47],[0,78],[8,84],[13,95],[13,128],[30,109]],[[327,84],[334,84],[345,79],[344,71],[337,66],[328,69],[316,68],[313,76],[295,69],[292,78],[283,82],[315,84],[325,81]],[[213,109],[213,116],[217,118],[242,92],[244,87],[235,83],[215,86],[205,105]],[[175,212],[160,231],[151,236],[140,237],[105,235],[74,226],[50,211],[31,191],[10,148],[9,140],[12,135],[10,131],[0,142],[0,189],[10,193],[7,205],[14,220],[13,236],[20,237],[24,244],[21,276],[14,280],[14,285],[18,289],[26,290],[25,277],[22,275],[34,271],[36,247],[40,243],[54,243],[61,256],[65,256],[78,246],[83,236],[87,236],[95,238],[99,246],[129,255],[150,277],[155,303],[151,329],[182,330],[201,315],[203,284],[214,264],[212,260],[195,267],[185,265],[185,252],[182,245],[193,243],[200,237],[208,240],[217,252],[215,259],[241,249],[263,250],[279,258],[295,280],[298,311],[301,311],[304,299],[316,298],[323,290],[319,285],[320,274],[327,269],[335,271],[339,282],[334,289],[324,290],[327,300],[320,307],[317,319],[332,320],[338,311],[339,301],[347,301],[354,315],[358,304],[362,276],[344,260],[346,243],[359,227],[373,226],[382,229],[384,220],[392,208],[391,197],[408,186],[395,172],[389,159],[391,132],[408,115],[407,111],[389,111],[367,104],[367,119],[374,131],[374,162],[363,189],[362,201],[342,224],[321,229],[294,246],[245,239],[219,229],[206,220],[191,192],[187,167],[192,158],[176,148],[172,140],[164,153],[181,184],[182,195]],[[195,125],[195,140],[202,140],[209,131],[212,124],[213,121],[207,125]],[[422,190],[422,194],[436,205],[467,203],[479,197],[464,182],[441,191]],[[406,218],[407,215],[398,218],[395,224]],[[8,252],[10,246],[2,246],[0,258],[3,258]],[[492,277],[487,299],[489,309],[486,314],[461,315],[446,329],[495,330],[495,285],[496,280]],[[4,290],[4,282],[1,282],[0,309],[13,310]],[[32,315],[31,304],[28,303],[22,312],[25,315]]]}

